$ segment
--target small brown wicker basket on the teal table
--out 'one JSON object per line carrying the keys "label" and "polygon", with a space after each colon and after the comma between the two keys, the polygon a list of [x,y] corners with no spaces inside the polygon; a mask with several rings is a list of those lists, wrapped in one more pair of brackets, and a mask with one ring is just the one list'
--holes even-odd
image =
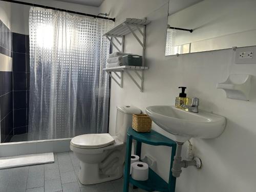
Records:
{"label": "small brown wicker basket on the teal table", "polygon": [[146,114],[133,114],[133,129],[137,132],[150,132],[151,118]]}

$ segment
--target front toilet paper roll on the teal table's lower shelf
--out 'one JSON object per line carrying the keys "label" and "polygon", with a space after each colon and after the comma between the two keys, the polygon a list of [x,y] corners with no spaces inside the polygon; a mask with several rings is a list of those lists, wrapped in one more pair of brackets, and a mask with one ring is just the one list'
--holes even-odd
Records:
{"label": "front toilet paper roll on the teal table's lower shelf", "polygon": [[132,166],[132,178],[138,181],[146,181],[148,179],[148,165],[144,162],[135,162]]}

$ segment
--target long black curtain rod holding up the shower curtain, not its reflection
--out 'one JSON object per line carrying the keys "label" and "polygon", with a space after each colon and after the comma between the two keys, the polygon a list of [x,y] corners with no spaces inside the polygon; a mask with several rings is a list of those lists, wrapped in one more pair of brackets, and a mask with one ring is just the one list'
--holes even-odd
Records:
{"label": "long black curtain rod holding up the shower curtain, not its reflection", "polygon": [[41,7],[41,8],[46,8],[46,9],[53,9],[53,10],[57,10],[57,11],[65,11],[65,12],[68,12],[68,13],[73,13],[73,14],[78,14],[78,15],[85,15],[85,16],[90,16],[90,17],[94,17],[94,18],[109,19],[109,20],[113,20],[113,22],[115,22],[115,18],[102,17],[102,16],[99,16],[99,15],[80,13],[80,12],[66,10],[66,9],[59,9],[59,8],[55,8],[55,7],[49,7],[49,6],[44,6],[44,5],[38,5],[38,4],[26,3],[26,2],[20,2],[20,1],[13,1],[13,0],[0,0],[0,1],[10,2],[10,3],[15,3],[15,4],[28,5],[28,6],[33,6],[33,7]]}

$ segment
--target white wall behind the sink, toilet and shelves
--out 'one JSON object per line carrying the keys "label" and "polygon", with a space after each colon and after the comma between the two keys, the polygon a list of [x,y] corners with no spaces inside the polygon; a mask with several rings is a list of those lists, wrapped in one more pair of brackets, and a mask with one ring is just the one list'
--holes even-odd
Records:
{"label": "white wall behind the sink, toilet and shelves", "polygon": [[[216,139],[192,140],[196,155],[202,159],[202,168],[183,169],[177,179],[176,191],[255,191],[256,90],[252,89],[249,102],[231,100],[226,98],[224,91],[216,89],[216,83],[224,81],[229,72],[255,76],[256,65],[235,65],[231,49],[165,57],[167,1],[141,0],[138,3],[120,0],[117,3],[105,0],[100,11],[108,12],[110,9],[111,17],[118,21],[125,17],[145,16],[152,20],[146,29],[145,64],[150,69],[145,72],[144,92],[141,93],[126,74],[123,89],[111,82],[110,133],[115,134],[116,106],[131,103],[144,112],[149,105],[173,105],[179,93],[178,87],[186,86],[189,97],[200,98],[200,109],[225,116],[227,126]],[[130,36],[125,37],[126,52],[138,52],[139,45],[133,42]],[[252,83],[254,88],[255,77]],[[155,124],[153,129],[171,138]],[[183,153],[185,151],[184,148]],[[157,159],[156,172],[167,181],[169,148],[143,145],[142,152]]]}

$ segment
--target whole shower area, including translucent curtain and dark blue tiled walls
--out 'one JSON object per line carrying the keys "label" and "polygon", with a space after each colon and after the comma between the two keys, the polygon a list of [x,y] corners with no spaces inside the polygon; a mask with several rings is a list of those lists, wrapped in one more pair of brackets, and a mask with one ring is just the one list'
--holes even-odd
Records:
{"label": "whole shower area, including translucent curtain and dark blue tiled walls", "polygon": [[[1,143],[108,132],[111,19],[0,1]],[[9,12],[8,12],[9,11]]]}

